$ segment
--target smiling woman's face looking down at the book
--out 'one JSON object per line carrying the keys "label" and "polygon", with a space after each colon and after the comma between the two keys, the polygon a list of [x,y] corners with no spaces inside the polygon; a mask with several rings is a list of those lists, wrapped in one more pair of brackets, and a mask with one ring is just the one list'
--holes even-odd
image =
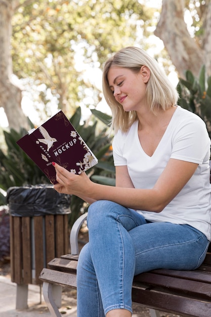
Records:
{"label": "smiling woman's face looking down at the book", "polygon": [[129,68],[112,66],[108,71],[108,83],[113,96],[124,111],[138,111],[145,106],[145,92],[150,72],[142,66],[138,73]]}

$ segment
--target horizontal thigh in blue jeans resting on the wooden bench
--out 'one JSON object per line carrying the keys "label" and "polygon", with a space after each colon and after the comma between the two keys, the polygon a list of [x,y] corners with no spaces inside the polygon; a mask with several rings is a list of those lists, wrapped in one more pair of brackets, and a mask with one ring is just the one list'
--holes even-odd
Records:
{"label": "horizontal thigh in blue jeans resting on the wooden bench", "polygon": [[135,248],[135,275],[156,268],[197,268],[203,261],[208,241],[189,225],[155,222],[129,231]]}

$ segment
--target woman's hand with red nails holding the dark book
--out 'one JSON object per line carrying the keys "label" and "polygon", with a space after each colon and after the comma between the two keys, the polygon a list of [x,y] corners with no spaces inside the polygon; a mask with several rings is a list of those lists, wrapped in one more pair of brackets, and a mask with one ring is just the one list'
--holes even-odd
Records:
{"label": "woman's hand with red nails holding the dark book", "polygon": [[90,188],[92,181],[86,173],[81,173],[79,175],[70,173],[57,163],[55,163],[54,167],[56,170],[56,180],[58,182],[54,185],[56,191],[76,196],[89,194],[88,189]]}

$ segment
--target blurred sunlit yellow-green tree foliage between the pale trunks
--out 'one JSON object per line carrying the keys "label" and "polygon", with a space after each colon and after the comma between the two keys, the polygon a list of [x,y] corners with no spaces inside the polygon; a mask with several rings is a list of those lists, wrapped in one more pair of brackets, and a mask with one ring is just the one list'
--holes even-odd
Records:
{"label": "blurred sunlit yellow-green tree foliage between the pale trunks", "polygon": [[12,19],[13,72],[32,91],[33,106],[39,110],[43,104],[40,115],[52,114],[52,101],[69,116],[81,104],[95,107],[103,96],[91,72],[111,53],[134,45],[139,30],[149,36],[154,12],[136,0],[42,0],[20,6]]}

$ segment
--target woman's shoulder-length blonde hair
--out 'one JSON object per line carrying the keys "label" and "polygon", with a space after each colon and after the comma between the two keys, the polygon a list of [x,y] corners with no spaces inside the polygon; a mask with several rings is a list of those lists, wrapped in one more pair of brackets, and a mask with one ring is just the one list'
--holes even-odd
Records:
{"label": "woman's shoulder-length blonde hair", "polygon": [[142,66],[149,68],[150,78],[145,97],[147,106],[154,113],[157,107],[166,110],[177,104],[178,92],[155,59],[137,47],[121,49],[106,61],[103,69],[103,94],[112,111],[111,129],[114,128],[114,132],[119,129],[128,131],[138,117],[136,111],[124,111],[122,105],[115,100],[108,83],[108,71],[112,66],[128,68],[135,73],[139,72]]}

